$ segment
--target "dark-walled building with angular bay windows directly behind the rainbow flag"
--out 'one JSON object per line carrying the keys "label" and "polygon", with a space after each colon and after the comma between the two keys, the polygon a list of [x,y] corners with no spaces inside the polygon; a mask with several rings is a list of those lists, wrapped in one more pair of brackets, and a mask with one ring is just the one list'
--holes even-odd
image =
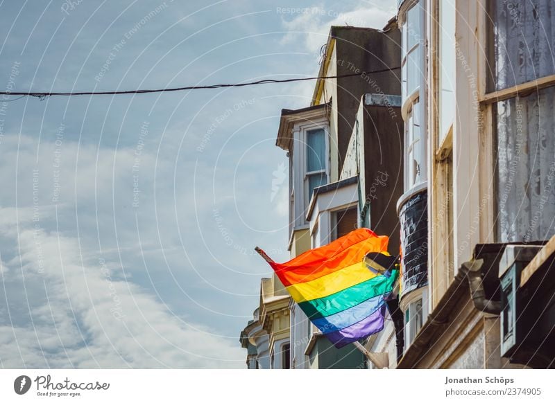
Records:
{"label": "dark-walled building with angular bay windows directly behind the rainbow flag", "polygon": [[[391,236],[402,194],[399,31],[332,27],[311,105],[283,109],[276,145],[289,157],[291,258],[367,226]],[[323,79],[330,75],[346,75]],[[291,368],[366,368],[336,349],[289,300]]]}

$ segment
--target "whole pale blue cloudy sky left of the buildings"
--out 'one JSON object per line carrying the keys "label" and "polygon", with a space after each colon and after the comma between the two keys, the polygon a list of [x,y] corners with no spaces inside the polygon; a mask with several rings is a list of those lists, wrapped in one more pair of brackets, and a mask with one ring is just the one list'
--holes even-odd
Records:
{"label": "whole pale blue cloudy sky left of the buildings", "polygon": [[[330,25],[394,14],[395,0],[2,1],[0,88],[316,75]],[[279,114],[313,85],[0,96],[0,366],[244,368],[239,331],[270,274],[253,248],[288,258]]]}

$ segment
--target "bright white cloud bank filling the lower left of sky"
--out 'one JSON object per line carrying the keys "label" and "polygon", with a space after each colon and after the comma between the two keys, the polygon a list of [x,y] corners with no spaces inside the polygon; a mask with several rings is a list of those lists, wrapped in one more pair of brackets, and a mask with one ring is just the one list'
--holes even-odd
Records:
{"label": "bright white cloud bank filling the lower left of sky", "polygon": [[[25,296],[31,323],[12,328],[10,320],[20,319],[12,315],[26,310],[15,307],[0,326],[4,368],[241,366],[244,354],[236,340],[178,319],[151,294],[119,279],[121,270],[113,262],[80,260],[76,239],[19,224],[19,257],[11,265],[20,258],[24,276],[3,271],[3,284],[44,285],[45,294]],[[7,225],[3,233],[12,233]]]}

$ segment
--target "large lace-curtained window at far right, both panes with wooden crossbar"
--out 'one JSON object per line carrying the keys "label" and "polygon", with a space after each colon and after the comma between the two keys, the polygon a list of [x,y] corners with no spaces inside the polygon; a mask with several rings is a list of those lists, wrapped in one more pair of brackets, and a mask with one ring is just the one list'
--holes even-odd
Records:
{"label": "large lace-curtained window at far right, both panes with wooden crossbar", "polygon": [[490,1],[498,242],[555,235],[555,3]]}

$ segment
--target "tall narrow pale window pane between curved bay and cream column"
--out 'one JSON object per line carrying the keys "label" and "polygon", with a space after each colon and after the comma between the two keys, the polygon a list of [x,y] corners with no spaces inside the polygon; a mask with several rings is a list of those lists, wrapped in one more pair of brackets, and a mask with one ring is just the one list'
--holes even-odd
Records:
{"label": "tall narrow pale window pane between curved bay and cream column", "polygon": [[438,145],[443,143],[455,114],[455,0],[439,1]]}

